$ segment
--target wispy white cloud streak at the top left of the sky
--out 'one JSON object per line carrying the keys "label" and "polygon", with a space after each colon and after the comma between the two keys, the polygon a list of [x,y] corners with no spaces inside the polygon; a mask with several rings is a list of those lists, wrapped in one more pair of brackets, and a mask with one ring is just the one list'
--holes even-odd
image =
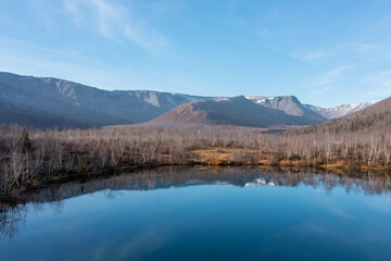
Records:
{"label": "wispy white cloud streak at the top left of the sky", "polygon": [[106,0],[64,0],[75,24],[91,24],[102,36],[115,41],[131,41],[157,52],[168,40],[138,17],[135,10]]}

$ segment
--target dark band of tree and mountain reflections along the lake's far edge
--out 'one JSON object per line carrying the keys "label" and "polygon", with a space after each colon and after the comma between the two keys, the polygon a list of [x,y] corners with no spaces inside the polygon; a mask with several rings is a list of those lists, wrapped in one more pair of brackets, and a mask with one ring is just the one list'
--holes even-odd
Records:
{"label": "dark band of tree and mountain reflections along the lake's far edge", "polygon": [[122,173],[109,177],[94,177],[88,181],[74,181],[50,185],[26,196],[25,203],[0,209],[0,235],[13,238],[18,227],[26,222],[29,211],[39,212],[49,203],[56,213],[61,212],[64,199],[80,195],[108,190],[106,197],[114,198],[123,190],[152,190],[197,185],[247,186],[311,186],[331,194],[337,186],[349,194],[360,191],[365,195],[389,195],[391,177],[374,173],[338,175],[329,172],[281,172],[277,170],[227,167],[220,170],[160,167],[133,173]]}

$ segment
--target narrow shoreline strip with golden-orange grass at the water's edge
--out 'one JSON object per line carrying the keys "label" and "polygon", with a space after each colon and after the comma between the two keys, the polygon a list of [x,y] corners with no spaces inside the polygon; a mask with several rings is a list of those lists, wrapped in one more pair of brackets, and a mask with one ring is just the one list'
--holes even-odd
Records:
{"label": "narrow shoreline strip with golden-orange grass at the water's edge", "polygon": [[[188,161],[181,161],[180,163],[168,161],[171,158],[168,154],[156,156],[156,159],[160,159],[159,162],[151,163],[138,163],[138,164],[126,164],[126,162],[121,162],[116,166],[105,166],[100,170],[90,170],[83,172],[70,172],[70,171],[59,171],[52,175],[47,175],[45,173],[37,174],[33,179],[26,181],[21,185],[14,185],[9,191],[0,195],[0,202],[2,203],[17,203],[23,201],[26,195],[34,192],[41,188],[45,188],[48,185],[62,184],[72,182],[75,179],[89,179],[98,176],[111,176],[121,174],[123,172],[135,172],[146,169],[156,169],[160,166],[173,166],[173,165],[182,165],[182,166],[192,166],[192,167],[206,167],[206,169],[216,169],[216,167],[226,167],[226,166],[256,166],[257,169],[263,170],[275,170],[275,171],[286,171],[286,172],[299,172],[312,170],[314,172],[318,171],[332,171],[333,173],[341,175],[350,175],[352,173],[376,173],[377,175],[391,173],[389,165],[383,166],[367,166],[360,165],[354,166],[349,164],[348,161],[336,161],[328,163],[316,163],[307,162],[297,157],[291,157],[291,159],[285,159],[279,153],[279,158],[275,153],[270,152],[260,152],[258,150],[249,149],[237,149],[237,148],[194,148],[190,151],[191,158]],[[166,160],[166,161],[163,161]]]}

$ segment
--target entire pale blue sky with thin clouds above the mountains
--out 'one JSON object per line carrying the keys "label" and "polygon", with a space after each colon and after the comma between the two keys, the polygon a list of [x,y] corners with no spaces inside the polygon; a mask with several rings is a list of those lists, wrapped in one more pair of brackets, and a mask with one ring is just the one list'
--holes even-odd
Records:
{"label": "entire pale blue sky with thin clouds above the mountains", "polygon": [[0,71],[103,89],[391,96],[391,0],[0,0]]}

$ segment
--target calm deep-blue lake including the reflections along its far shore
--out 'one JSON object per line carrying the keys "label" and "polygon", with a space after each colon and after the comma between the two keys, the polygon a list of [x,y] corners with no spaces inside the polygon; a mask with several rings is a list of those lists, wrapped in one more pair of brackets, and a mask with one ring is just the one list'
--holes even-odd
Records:
{"label": "calm deep-blue lake including the reflections along its far shore", "polygon": [[0,213],[0,260],[391,260],[390,190],[249,169],[73,182]]}

